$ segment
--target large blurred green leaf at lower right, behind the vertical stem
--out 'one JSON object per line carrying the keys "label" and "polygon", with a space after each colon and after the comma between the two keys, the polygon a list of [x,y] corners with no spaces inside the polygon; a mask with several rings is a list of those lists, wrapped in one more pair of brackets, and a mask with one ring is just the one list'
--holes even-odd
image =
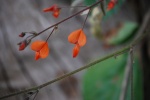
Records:
{"label": "large blurred green leaf at lower right, behind the vertical stem", "polygon": [[[117,59],[110,58],[89,68],[83,78],[83,100],[118,100],[126,62],[127,54],[123,54]],[[135,100],[142,100],[141,85],[141,70],[136,60],[134,63]],[[129,95],[127,100],[130,100]]]}

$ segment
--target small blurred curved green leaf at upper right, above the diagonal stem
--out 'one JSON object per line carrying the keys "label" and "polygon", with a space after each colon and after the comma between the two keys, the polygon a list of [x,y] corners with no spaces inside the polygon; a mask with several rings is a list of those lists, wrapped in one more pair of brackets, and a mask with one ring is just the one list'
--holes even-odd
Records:
{"label": "small blurred curved green leaf at upper right, above the diagonal stem", "polygon": [[134,22],[125,22],[119,32],[108,40],[110,45],[118,45],[130,40],[136,33],[138,24]]}

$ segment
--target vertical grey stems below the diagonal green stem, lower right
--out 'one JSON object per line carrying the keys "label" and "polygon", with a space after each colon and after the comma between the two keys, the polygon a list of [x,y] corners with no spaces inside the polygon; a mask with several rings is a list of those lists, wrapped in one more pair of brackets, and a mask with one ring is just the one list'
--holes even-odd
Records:
{"label": "vertical grey stems below the diagonal green stem, lower right", "polygon": [[133,49],[132,47],[130,48],[129,52],[129,57],[127,61],[127,66],[125,68],[125,73],[124,73],[124,78],[121,86],[121,93],[119,100],[125,100],[128,86],[129,86],[129,81],[131,82],[131,100],[133,100]]}

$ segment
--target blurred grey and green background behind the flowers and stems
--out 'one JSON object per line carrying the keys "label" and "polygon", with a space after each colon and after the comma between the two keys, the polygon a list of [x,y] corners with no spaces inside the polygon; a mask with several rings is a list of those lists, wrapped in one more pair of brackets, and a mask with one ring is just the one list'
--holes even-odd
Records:
{"label": "blurred grey and green background behind the flowers and stems", "polygon": [[[50,55],[46,59],[35,61],[30,47],[18,50],[21,32],[40,32],[82,9],[64,8],[56,19],[51,13],[44,13],[44,8],[53,4],[60,7],[88,6],[96,1],[0,0],[0,96],[41,85],[124,47],[138,35],[148,11],[150,15],[149,0],[118,0],[105,16],[100,6],[93,8],[84,28],[87,43],[78,57],[72,58],[73,45],[68,42],[68,35],[82,27],[86,15],[76,16],[59,25],[48,40]],[[103,2],[105,9],[109,1]],[[46,40],[50,32],[48,30],[34,40]],[[149,37],[136,47],[134,56],[134,98],[150,100]],[[36,100],[119,100],[127,63],[128,53],[116,59],[110,58],[41,89]],[[130,86],[126,100],[130,100],[129,89]],[[28,94],[21,94],[5,100],[28,100],[27,97]]]}

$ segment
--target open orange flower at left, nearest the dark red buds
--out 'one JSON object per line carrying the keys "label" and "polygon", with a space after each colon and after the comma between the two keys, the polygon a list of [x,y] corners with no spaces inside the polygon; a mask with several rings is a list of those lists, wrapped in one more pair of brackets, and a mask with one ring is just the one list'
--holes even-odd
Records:
{"label": "open orange flower at left, nearest the dark red buds", "polygon": [[49,54],[48,43],[46,41],[35,41],[31,44],[31,49],[35,51],[35,60],[46,58]]}

